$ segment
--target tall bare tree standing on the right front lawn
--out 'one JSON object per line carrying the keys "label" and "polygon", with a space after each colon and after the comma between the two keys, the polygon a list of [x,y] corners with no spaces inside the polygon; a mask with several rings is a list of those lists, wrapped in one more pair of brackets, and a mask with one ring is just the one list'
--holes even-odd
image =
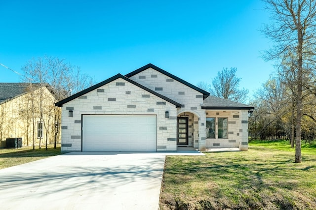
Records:
{"label": "tall bare tree standing on the right front lawn", "polygon": [[[266,60],[284,60],[290,55],[297,80],[296,90],[296,141],[295,162],[302,161],[302,109],[304,79],[315,66],[316,1],[315,0],[264,0],[271,11],[271,24],[263,32],[271,38],[273,48],[266,52]],[[281,61],[280,61],[281,63]]]}

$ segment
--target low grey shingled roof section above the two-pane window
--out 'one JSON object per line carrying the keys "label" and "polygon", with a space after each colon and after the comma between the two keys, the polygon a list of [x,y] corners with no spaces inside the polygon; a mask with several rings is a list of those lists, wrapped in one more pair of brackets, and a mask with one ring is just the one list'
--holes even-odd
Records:
{"label": "low grey shingled roof section above the two-pane window", "polygon": [[254,109],[254,107],[210,95],[203,100],[203,104],[201,105],[201,109],[217,109],[217,110],[246,109],[246,110],[251,110],[251,109]]}

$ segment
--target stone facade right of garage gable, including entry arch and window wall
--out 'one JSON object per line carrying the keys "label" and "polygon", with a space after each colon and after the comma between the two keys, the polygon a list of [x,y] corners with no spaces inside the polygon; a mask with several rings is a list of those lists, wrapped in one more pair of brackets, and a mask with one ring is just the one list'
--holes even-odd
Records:
{"label": "stone facade right of garage gable, including entry arch and window wall", "polygon": [[[203,94],[165,74],[148,68],[130,79],[177,101],[184,106],[177,109],[177,117],[189,117],[189,144],[201,151],[206,148],[248,148],[248,110],[204,110],[201,109]],[[237,117],[238,116],[238,117]],[[206,117],[228,118],[228,138],[206,139]]]}

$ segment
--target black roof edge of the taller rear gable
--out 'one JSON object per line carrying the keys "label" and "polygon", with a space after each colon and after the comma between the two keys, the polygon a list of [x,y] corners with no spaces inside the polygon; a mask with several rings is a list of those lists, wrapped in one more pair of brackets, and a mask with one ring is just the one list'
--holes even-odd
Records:
{"label": "black roof edge of the taller rear gable", "polygon": [[178,81],[178,82],[180,82],[180,83],[182,83],[182,84],[184,84],[184,85],[186,85],[186,86],[188,86],[188,87],[190,87],[190,88],[192,88],[192,89],[194,89],[194,90],[197,90],[198,92],[200,92],[200,93],[203,94],[203,99],[204,99],[204,98],[207,98],[207,96],[209,96],[209,94],[210,94],[209,92],[206,92],[205,90],[202,90],[202,89],[200,89],[200,88],[197,88],[197,86],[194,86],[194,85],[192,85],[192,84],[190,84],[190,83],[184,81],[183,79],[180,79],[179,77],[174,76],[173,74],[170,74],[169,72],[167,72],[167,71],[165,71],[165,70],[163,70],[163,69],[161,69],[161,68],[155,66],[155,65],[152,64],[152,63],[149,63],[149,64],[147,64],[147,65],[145,65],[145,66],[143,66],[143,67],[141,67],[141,68],[139,68],[139,69],[136,69],[135,71],[132,71],[132,72],[126,74],[125,76],[126,76],[126,77],[132,77],[132,76],[134,76],[135,74],[138,74],[138,73],[140,73],[140,72],[142,72],[142,71],[144,71],[144,70],[146,70],[146,69],[148,69],[148,68],[153,68],[153,69],[155,69],[156,71],[158,71],[158,72],[160,72],[160,73],[162,73],[162,74],[164,74],[164,75],[166,75],[166,76],[168,76],[168,77],[170,77],[170,78],[172,78],[172,79],[174,79],[174,80],[176,80],[176,81]]}

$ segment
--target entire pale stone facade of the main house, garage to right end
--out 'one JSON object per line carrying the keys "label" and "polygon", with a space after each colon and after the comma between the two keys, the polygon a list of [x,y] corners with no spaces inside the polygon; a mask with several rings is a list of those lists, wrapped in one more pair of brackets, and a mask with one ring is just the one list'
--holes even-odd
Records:
{"label": "entire pale stone facade of the main house, garage to right end", "polygon": [[[81,124],[82,115],[85,114],[156,115],[157,151],[177,150],[177,117],[183,116],[188,117],[188,146],[201,151],[206,148],[228,147],[248,149],[248,110],[201,109],[205,96],[202,92],[189,87],[186,82],[181,82],[181,79],[172,78],[152,67],[133,74],[129,79],[182,104],[182,107],[176,108],[167,99],[164,100],[123,78],[118,78],[63,104],[63,151],[82,150]],[[68,117],[69,111],[73,111],[73,117]],[[166,111],[169,112],[169,118],[165,117]],[[228,118],[227,139],[218,139],[217,134],[214,139],[206,139],[207,117]]]}

